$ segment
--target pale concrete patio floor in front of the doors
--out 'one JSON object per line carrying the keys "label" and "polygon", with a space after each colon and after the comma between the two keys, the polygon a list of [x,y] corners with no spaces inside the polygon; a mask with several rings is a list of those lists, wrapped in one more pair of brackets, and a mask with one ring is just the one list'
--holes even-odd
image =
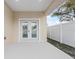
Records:
{"label": "pale concrete patio floor in front of the doors", "polygon": [[73,59],[49,43],[27,42],[5,46],[5,59]]}

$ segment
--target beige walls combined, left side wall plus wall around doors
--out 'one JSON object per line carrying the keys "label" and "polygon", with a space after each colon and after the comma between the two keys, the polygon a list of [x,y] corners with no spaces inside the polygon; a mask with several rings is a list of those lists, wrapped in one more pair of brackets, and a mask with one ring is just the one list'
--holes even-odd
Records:
{"label": "beige walls combined, left side wall plus wall around doors", "polygon": [[39,41],[47,41],[47,23],[43,12],[13,12],[6,4],[4,10],[5,43],[16,43],[19,40],[19,19],[37,18],[39,20]]}

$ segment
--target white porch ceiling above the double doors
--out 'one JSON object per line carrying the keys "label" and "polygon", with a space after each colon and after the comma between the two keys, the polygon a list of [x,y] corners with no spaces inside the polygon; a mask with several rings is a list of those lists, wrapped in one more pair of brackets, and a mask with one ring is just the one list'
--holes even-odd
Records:
{"label": "white porch ceiling above the double doors", "polygon": [[[13,11],[44,12],[55,0],[4,0]],[[59,0],[57,0],[59,2]],[[60,0],[61,2],[62,0]],[[56,3],[57,4],[57,3]]]}

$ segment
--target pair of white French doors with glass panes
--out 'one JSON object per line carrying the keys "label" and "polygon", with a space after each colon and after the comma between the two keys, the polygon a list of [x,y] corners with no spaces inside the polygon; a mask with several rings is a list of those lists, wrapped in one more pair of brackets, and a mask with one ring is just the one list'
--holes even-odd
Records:
{"label": "pair of white French doors with glass panes", "polygon": [[20,36],[23,41],[38,40],[38,21],[20,21]]}

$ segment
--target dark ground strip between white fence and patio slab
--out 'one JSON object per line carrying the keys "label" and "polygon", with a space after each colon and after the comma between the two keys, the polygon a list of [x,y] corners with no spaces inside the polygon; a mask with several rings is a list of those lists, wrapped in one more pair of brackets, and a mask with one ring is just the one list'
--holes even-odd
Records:
{"label": "dark ground strip between white fence and patio slab", "polygon": [[74,47],[68,46],[66,44],[61,44],[60,42],[55,41],[50,38],[47,38],[47,41],[75,59],[75,48]]}

